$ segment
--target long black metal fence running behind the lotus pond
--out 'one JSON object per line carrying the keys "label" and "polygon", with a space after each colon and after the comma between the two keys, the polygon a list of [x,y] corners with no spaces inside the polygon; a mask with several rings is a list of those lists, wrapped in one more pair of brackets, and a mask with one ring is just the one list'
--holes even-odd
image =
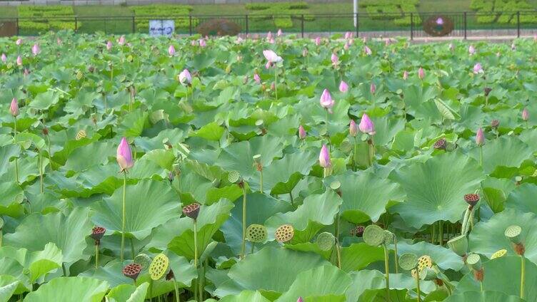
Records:
{"label": "long black metal fence running behind the lotus pond", "polygon": [[[537,34],[537,11],[407,13],[407,14],[244,14],[228,16],[72,16],[57,18],[0,19],[0,36],[34,36],[46,31],[71,29],[77,33],[149,33],[149,20],[174,20],[175,32],[195,34],[197,26],[212,19],[227,19],[240,28],[240,34],[253,35],[281,28],[301,37],[323,36],[351,31],[356,36],[407,36],[427,38],[428,19],[441,17],[453,24],[445,36],[472,38],[486,36],[520,37]],[[356,26],[355,26],[356,21]]]}

